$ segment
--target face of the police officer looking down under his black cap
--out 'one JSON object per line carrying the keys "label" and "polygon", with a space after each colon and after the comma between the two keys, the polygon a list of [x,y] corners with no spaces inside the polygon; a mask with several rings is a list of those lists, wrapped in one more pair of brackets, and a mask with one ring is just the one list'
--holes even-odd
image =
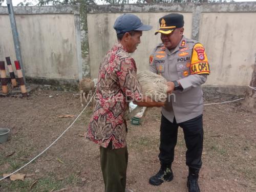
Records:
{"label": "face of the police officer looking down under his black cap", "polygon": [[177,28],[172,33],[165,35],[161,33],[161,40],[167,49],[174,49],[179,44],[184,28]]}

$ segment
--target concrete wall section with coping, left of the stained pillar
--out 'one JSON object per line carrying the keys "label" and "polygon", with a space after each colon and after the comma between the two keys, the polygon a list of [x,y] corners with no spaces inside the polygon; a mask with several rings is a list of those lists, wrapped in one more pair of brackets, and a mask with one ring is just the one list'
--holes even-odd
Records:
{"label": "concrete wall section with coping, left of the stained pillar", "polygon": [[[15,18],[27,78],[77,81],[81,74],[78,7],[18,7]],[[78,20],[78,22],[77,22]],[[7,8],[0,9],[0,59],[16,60]],[[13,62],[14,63],[14,62]]]}

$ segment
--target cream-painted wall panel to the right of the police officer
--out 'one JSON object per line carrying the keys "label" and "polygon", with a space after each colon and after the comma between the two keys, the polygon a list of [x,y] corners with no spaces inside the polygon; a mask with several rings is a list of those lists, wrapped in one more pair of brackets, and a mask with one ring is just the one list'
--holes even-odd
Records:
{"label": "cream-painted wall panel to the right of the police officer", "polygon": [[256,56],[256,13],[202,13],[199,40],[210,61],[207,85],[247,86]]}

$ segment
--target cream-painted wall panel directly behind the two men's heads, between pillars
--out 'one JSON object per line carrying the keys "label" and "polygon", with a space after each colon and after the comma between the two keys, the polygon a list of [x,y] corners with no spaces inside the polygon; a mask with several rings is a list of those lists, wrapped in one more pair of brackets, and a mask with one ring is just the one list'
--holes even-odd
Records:
{"label": "cream-painted wall panel directly behind the two men's heads, between pillars", "polygon": [[[159,28],[159,18],[169,13],[133,13],[142,23],[153,26],[150,31],[143,31],[141,43],[132,53],[138,71],[148,69],[148,59],[152,50],[161,42],[160,35],[155,35]],[[95,13],[88,14],[89,54],[91,65],[91,77],[98,78],[98,70],[101,59],[105,53],[117,42],[116,31],[113,26],[121,13]],[[190,38],[192,27],[192,13],[184,13],[186,37]]]}

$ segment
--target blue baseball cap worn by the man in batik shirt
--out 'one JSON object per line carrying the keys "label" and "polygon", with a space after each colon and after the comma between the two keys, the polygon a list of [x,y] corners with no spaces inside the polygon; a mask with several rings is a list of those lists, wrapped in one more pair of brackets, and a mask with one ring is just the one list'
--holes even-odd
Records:
{"label": "blue baseball cap worn by the man in batik shirt", "polygon": [[125,13],[116,19],[114,29],[117,34],[120,34],[129,31],[148,31],[152,29],[152,26],[143,25],[139,17]]}

